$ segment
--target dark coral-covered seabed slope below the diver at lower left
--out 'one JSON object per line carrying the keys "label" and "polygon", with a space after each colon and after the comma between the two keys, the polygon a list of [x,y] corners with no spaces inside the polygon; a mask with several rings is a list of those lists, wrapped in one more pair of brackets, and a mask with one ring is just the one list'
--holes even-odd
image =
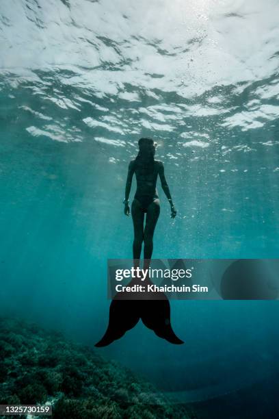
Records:
{"label": "dark coral-covered seabed slope below the diver at lower left", "polygon": [[92,348],[0,318],[0,404],[44,403],[53,405],[53,419],[196,417]]}

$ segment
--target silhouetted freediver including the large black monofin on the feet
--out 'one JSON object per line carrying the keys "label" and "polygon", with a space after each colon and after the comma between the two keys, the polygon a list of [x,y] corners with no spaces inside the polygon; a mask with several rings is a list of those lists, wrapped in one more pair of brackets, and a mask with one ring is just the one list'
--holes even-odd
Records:
{"label": "silhouetted freediver including the large black monofin on the feet", "polygon": [[[160,203],[156,189],[158,175],[161,179],[163,191],[170,203],[172,218],[176,216],[176,210],[172,203],[168,183],[165,180],[163,163],[154,159],[157,144],[151,138],[140,138],[138,144],[139,153],[135,160],[132,160],[129,164],[123,203],[124,214],[129,216],[129,194],[133,174],[135,173],[137,190],[131,206],[134,228],[133,260],[134,266],[138,266],[142,252],[142,243],[144,242],[144,268],[146,269],[150,265],[153,251],[153,235],[160,214]],[[144,214],[146,214],[145,226]],[[147,280],[150,281],[150,279]],[[121,338],[126,331],[137,324],[139,318],[142,319],[146,327],[155,331],[160,338],[168,340],[168,342],[173,344],[183,344],[183,341],[177,338],[172,330],[170,303],[163,292],[154,293],[152,299],[149,300],[129,300],[129,296],[125,296],[125,293],[121,292],[120,294],[116,294],[113,301],[111,301],[107,331],[95,346],[107,346],[114,340]],[[128,299],[126,299],[127,297]]]}

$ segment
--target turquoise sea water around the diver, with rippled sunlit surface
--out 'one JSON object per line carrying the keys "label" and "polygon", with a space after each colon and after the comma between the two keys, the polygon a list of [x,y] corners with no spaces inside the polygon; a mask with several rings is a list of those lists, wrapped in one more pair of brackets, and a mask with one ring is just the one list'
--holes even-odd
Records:
{"label": "turquoise sea water around the diver, with rippled sunlit surface", "polygon": [[[131,257],[122,198],[140,136],[158,142],[178,210],[159,189],[154,257],[278,257],[278,12],[1,0],[1,314],[101,338],[107,258]],[[100,352],[185,401],[274,376],[276,302],[172,314],[183,346],[137,325]]]}

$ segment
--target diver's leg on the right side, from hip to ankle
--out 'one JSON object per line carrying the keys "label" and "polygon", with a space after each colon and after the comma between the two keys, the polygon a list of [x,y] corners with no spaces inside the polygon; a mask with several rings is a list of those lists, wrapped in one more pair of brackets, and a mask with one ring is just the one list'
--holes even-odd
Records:
{"label": "diver's leg on the right side, from hip to ankle", "polygon": [[[153,235],[160,215],[160,201],[155,199],[148,205],[146,212],[146,225],[144,227],[144,259],[151,259],[153,251]],[[148,260],[146,264],[149,266]]]}

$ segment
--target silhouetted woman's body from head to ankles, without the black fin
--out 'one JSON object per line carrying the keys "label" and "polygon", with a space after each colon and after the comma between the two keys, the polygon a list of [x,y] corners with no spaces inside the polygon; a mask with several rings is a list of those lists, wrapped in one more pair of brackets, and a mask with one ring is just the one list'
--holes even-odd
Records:
{"label": "silhouetted woman's body from head to ankles, without the black fin", "polygon": [[[127,183],[125,188],[124,214],[130,215],[129,194],[133,174],[137,180],[137,190],[132,203],[132,218],[134,228],[133,259],[140,258],[142,242],[144,242],[144,259],[151,259],[153,251],[153,235],[157,220],[160,214],[160,202],[157,194],[156,183],[159,175],[163,192],[170,203],[171,217],[176,216],[176,210],[172,203],[172,196],[165,180],[163,163],[154,160],[157,144],[152,138],[140,138],[139,153],[135,160],[129,164]],[[146,214],[146,225],[144,227],[144,214]],[[138,263],[138,262],[134,262]],[[148,263],[148,262],[147,262]]]}

